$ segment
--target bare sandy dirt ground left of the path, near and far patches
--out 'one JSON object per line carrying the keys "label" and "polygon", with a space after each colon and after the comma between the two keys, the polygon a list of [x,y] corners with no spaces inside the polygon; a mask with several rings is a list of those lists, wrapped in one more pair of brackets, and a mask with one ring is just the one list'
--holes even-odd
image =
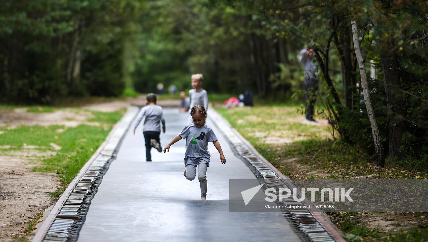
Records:
{"label": "bare sandy dirt ground left of the path, near and far patches", "polygon": [[[178,100],[161,100],[161,106],[178,106]],[[76,127],[80,124],[99,125],[87,121],[90,111],[114,112],[129,105],[146,105],[145,96],[123,100],[98,102],[80,108],[65,108],[54,112],[27,112],[26,108],[0,109],[0,127],[8,130],[18,126],[62,125]],[[58,129],[56,132],[63,132]],[[7,131],[0,132],[1,135]],[[33,172],[42,156],[54,156],[61,147],[51,143],[54,151],[38,151],[39,147],[24,146],[20,151],[11,151],[9,145],[0,146],[0,242],[18,241],[25,236],[29,222],[55,203],[49,192],[59,188],[56,174]],[[39,220],[40,221],[40,220]],[[14,238],[15,237],[15,238]],[[33,234],[29,236],[31,240]]]}

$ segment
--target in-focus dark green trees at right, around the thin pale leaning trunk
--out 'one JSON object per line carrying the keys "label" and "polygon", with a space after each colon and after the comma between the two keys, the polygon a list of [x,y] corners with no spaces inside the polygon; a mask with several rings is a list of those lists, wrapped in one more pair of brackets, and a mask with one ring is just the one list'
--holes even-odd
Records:
{"label": "in-focus dark green trees at right, around the thin pale leaning trunk", "polygon": [[367,69],[372,62],[377,74],[369,77],[369,95],[384,153],[390,162],[428,168],[425,1],[208,1],[219,4],[251,12],[267,39],[312,44],[323,86],[320,112],[342,140],[374,153],[352,41],[351,20],[356,20]]}

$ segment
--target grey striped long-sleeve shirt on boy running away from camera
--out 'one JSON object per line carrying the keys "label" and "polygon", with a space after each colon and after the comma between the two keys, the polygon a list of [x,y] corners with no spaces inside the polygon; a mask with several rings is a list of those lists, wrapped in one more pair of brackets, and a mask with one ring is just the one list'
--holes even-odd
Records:
{"label": "grey striped long-sleeve shirt on boy running away from camera", "polygon": [[140,124],[141,120],[146,117],[143,124],[143,131],[157,131],[160,132],[160,122],[162,127],[165,128],[165,118],[163,118],[162,107],[158,105],[147,105],[141,109],[140,115],[135,122],[134,127]]}

